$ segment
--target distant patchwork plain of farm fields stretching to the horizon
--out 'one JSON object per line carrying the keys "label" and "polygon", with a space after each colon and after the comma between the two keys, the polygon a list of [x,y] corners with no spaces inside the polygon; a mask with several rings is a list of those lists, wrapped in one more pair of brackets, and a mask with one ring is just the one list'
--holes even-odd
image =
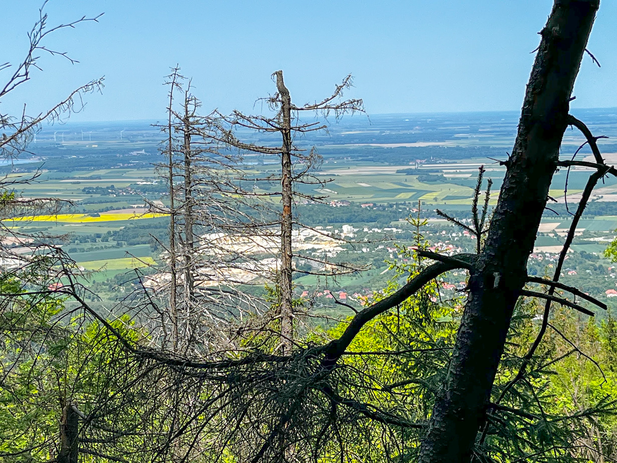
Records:
{"label": "distant patchwork plain of farm fields stretching to the horizon", "polygon": [[[594,111],[584,114],[594,133],[617,135],[615,114]],[[484,187],[487,179],[493,181],[489,204],[496,203],[505,175],[505,167],[496,160],[507,159],[517,118],[515,112],[503,112],[345,119],[326,135],[316,133],[300,141],[307,148],[315,146],[323,156],[323,163],[314,172],[323,185],[300,184],[297,190],[307,196],[321,196],[338,207],[300,201],[296,212],[307,225],[333,231],[345,223],[360,230],[397,227],[404,232],[392,240],[405,243],[410,239],[406,219],[420,203],[422,214],[431,219],[430,229],[449,236],[449,224],[436,220],[434,209],[468,217],[481,165],[486,169]],[[64,236],[64,251],[83,269],[96,271],[92,280],[105,282],[111,297],[114,290],[109,288],[131,270],[141,267],[146,271],[160,264],[162,249],[155,238],[165,240],[168,219],[144,208],[144,198],[160,207],[168,205],[167,185],[154,167],[162,162],[160,133],[144,122],[97,123],[91,127],[68,124],[66,129],[64,142],[59,143],[54,141],[53,132],[44,128],[33,150],[35,157],[0,169],[11,180],[23,180],[36,172],[36,181],[19,185],[17,193],[27,198],[65,200],[67,210],[57,215],[6,220],[4,225],[23,233]],[[121,130],[122,140],[118,136]],[[84,133],[89,134],[87,141]],[[577,131],[567,131],[563,159],[571,158],[581,143]],[[617,154],[611,154],[617,151],[617,145],[605,140],[602,143],[607,159],[613,156],[617,162]],[[589,154],[583,148],[578,159]],[[247,157],[245,162],[243,169],[258,178],[280,169],[276,156]],[[563,230],[569,227],[568,211],[576,207],[589,174],[584,168],[555,173],[549,192],[555,202],[549,205],[553,211],[547,211],[540,227],[536,243],[539,252],[560,249]],[[255,191],[266,193],[279,188],[278,182],[272,181],[256,185]],[[272,198],[273,206],[278,207],[279,199]],[[574,251],[601,256],[617,229],[616,179],[603,180],[579,227]],[[383,263],[387,258],[387,253],[375,250],[359,254],[357,259],[370,262],[371,270],[360,277],[341,276],[336,284],[340,288],[381,285],[389,278]],[[318,283],[311,275],[294,281],[303,288]]]}

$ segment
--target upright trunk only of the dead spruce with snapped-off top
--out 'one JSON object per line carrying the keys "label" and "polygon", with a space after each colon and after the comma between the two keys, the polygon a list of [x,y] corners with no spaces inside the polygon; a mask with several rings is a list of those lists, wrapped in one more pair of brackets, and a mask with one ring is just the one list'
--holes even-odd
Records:
{"label": "upright trunk only of the dead spruce with snapped-off top", "polygon": [[283,149],[281,154],[281,185],[283,212],[281,214],[281,345],[289,354],[293,347],[294,319],[292,308],[292,252],[291,252],[291,96],[283,82],[283,71],[276,71],[276,89],[281,96]]}

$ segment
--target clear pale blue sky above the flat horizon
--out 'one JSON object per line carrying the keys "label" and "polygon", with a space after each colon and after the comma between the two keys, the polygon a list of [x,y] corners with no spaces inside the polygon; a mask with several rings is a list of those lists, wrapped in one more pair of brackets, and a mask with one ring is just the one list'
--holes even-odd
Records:
{"label": "clear pale blue sky above the flat horizon", "polygon": [[[41,0],[6,0],[0,62],[15,62]],[[204,111],[259,111],[254,101],[283,69],[296,103],[320,99],[347,73],[349,96],[370,114],[518,110],[539,31],[552,0],[210,1],[51,0],[50,25],[105,14],[63,30],[50,48],[80,60],[44,57],[0,111],[27,102],[42,110],[68,91],[106,77],[76,121],[159,119],[169,67],[193,78]],[[604,0],[574,90],[578,107],[617,106],[617,2]],[[7,72],[0,74],[4,81]]]}

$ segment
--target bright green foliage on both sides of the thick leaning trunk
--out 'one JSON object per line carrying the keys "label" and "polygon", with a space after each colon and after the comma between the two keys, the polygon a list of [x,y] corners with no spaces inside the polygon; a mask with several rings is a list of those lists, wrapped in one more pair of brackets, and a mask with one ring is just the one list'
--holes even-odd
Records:
{"label": "bright green foliage on both sides of the thick leaning trunk", "polygon": [[[411,222],[415,248],[426,248],[424,222]],[[405,246],[400,253],[414,255]],[[422,265],[417,257],[410,264],[392,263],[397,277],[376,299],[394,292],[401,277],[412,278]],[[426,423],[447,375],[462,304],[462,296],[443,301],[439,282],[432,282],[395,311],[366,323],[337,370],[337,394],[401,423]],[[475,462],[612,461],[617,456],[617,322],[609,317],[598,326],[594,320],[573,319],[569,310],[553,308],[549,332],[526,374],[512,385],[544,311],[534,299],[517,304],[492,394],[498,404],[487,407]],[[328,337],[338,338],[346,326],[333,328]],[[349,434],[344,445],[331,442],[332,456],[343,452],[350,462],[416,459],[423,430],[366,420],[358,413],[354,417],[357,433]]]}

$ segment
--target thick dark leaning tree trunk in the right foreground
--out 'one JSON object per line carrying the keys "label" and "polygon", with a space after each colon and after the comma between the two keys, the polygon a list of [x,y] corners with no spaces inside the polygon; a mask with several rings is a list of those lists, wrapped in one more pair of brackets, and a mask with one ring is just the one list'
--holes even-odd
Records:
{"label": "thick dark leaning tree trunk in the right foreground", "polygon": [[471,459],[516,299],[526,283],[569,98],[598,6],[598,0],[556,0],[540,33],[515,146],[484,251],[470,271],[468,302],[420,463]]}

